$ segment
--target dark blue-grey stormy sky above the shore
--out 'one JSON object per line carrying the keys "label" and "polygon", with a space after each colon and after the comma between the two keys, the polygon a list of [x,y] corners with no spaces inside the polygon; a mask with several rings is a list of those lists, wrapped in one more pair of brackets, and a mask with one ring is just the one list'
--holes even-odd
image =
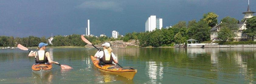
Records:
{"label": "dark blue-grey stormy sky above the shore", "polygon": [[[179,21],[202,18],[215,12],[241,20],[247,0],[0,0],[0,35],[50,37],[85,34],[90,19],[91,34],[121,35],[144,32],[150,15],[163,18],[163,27]],[[250,0],[256,12],[256,0]],[[255,14],[254,14],[255,15]]]}

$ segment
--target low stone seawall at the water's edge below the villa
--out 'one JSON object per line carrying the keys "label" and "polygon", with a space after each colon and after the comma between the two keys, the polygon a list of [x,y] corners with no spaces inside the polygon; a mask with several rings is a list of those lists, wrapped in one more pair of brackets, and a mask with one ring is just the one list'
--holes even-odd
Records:
{"label": "low stone seawall at the water's edge below the villa", "polygon": [[205,48],[256,48],[256,44],[239,44],[239,45],[205,45]]}

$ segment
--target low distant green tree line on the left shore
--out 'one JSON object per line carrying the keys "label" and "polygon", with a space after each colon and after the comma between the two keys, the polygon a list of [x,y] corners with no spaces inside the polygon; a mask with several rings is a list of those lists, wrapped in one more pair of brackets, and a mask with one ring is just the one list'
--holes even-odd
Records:
{"label": "low distant green tree line on the left shore", "polygon": [[[62,35],[56,35],[53,37],[52,45],[48,44],[48,46],[85,46],[86,43],[81,40],[81,35],[73,34],[68,36],[62,36]],[[86,39],[88,39],[93,44],[99,44],[101,42],[105,41],[115,41],[115,40],[121,40],[121,36],[119,38],[114,39],[106,36],[102,37],[95,37],[95,36],[85,36]],[[47,38],[47,39],[50,39]],[[29,36],[29,37],[16,37],[13,36],[0,36],[0,46],[7,47],[7,46],[17,46],[18,44],[21,44],[25,47],[36,47],[40,42],[48,43],[48,40],[45,38],[45,36],[39,38],[35,36]]]}

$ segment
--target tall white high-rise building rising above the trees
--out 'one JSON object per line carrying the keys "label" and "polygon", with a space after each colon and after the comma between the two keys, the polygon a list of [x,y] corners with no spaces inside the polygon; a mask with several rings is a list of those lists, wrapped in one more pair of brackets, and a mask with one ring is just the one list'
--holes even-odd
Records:
{"label": "tall white high-rise building rising above the trees", "polygon": [[152,32],[153,30],[162,29],[163,27],[163,19],[156,18],[156,15],[150,15],[150,17],[145,22],[145,32]]}

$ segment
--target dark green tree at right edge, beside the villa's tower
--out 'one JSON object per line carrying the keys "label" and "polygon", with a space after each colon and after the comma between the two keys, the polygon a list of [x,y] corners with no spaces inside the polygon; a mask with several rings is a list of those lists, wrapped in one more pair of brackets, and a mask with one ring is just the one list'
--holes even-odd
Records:
{"label": "dark green tree at right edge, beside the villa's tower", "polygon": [[254,36],[256,35],[256,16],[249,18],[245,24],[247,29],[243,30],[243,33],[246,33],[254,40]]}

